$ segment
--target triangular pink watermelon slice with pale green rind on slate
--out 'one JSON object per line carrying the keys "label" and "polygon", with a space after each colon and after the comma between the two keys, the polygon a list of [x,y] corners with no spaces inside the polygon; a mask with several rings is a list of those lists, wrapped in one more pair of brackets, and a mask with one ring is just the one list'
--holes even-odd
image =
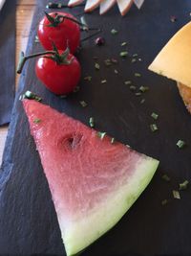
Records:
{"label": "triangular pink watermelon slice with pale green rind on slate", "polygon": [[159,161],[98,136],[48,105],[24,100],[68,256],[96,241],[137,200]]}

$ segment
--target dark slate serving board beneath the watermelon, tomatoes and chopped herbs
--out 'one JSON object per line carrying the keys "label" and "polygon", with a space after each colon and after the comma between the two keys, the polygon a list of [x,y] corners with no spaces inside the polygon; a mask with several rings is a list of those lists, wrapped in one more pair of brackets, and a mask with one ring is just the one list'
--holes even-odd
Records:
{"label": "dark slate serving board beneath the watermelon, tomatoes and chopped herbs", "polygon": [[[35,27],[46,3],[38,3],[28,53],[40,49],[39,44],[34,43]],[[148,64],[165,42],[189,21],[190,11],[190,0],[146,0],[140,11],[133,7],[123,18],[118,15],[117,7],[102,17],[97,11],[86,14],[91,26],[103,28],[106,46],[95,47],[94,39],[83,44],[78,54],[82,78],[91,75],[93,80],[82,79],[80,91],[67,99],[60,99],[46,90],[35,79],[35,60],[28,62],[19,83],[0,176],[1,255],[65,255],[48,184],[18,101],[19,95],[27,89],[41,95],[44,103],[85,124],[94,116],[97,129],[160,160],[157,174],[135,205],[116,227],[82,255],[190,255],[191,188],[180,193],[180,200],[173,198],[172,190],[178,189],[184,179],[191,180],[191,118],[175,82],[147,71]],[[71,12],[77,14],[82,9]],[[177,16],[177,22],[170,21],[171,15]],[[111,35],[113,28],[118,35]],[[128,41],[129,52],[138,53],[142,62],[131,64],[131,58],[121,60],[118,57],[123,41]],[[98,57],[100,71],[95,70],[94,56]],[[117,58],[119,63],[106,68],[102,63],[105,58]],[[115,68],[118,75],[114,73]],[[135,72],[140,73],[141,78],[135,78]],[[107,79],[107,83],[101,84],[103,79]],[[150,86],[143,96],[146,99],[143,105],[140,105],[142,97],[136,97],[124,84],[126,80],[138,86]],[[88,107],[81,107],[80,100],[85,100]],[[154,123],[150,117],[153,111],[159,113],[156,133],[149,128]],[[179,139],[188,145],[183,150],[176,147]],[[169,183],[161,179],[163,174],[171,177]],[[165,198],[169,203],[161,206]]]}

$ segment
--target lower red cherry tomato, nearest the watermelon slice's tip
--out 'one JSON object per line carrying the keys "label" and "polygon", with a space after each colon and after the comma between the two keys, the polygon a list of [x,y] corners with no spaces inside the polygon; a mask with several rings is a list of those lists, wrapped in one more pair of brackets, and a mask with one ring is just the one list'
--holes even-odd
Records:
{"label": "lower red cherry tomato, nearest the watermelon slice's tip", "polygon": [[[62,53],[62,51],[58,52]],[[52,58],[47,57],[51,55],[40,57],[36,62],[37,78],[54,94],[65,95],[73,92],[81,76],[81,68],[77,59],[69,54],[67,60],[72,59],[70,64],[58,64]]]}

